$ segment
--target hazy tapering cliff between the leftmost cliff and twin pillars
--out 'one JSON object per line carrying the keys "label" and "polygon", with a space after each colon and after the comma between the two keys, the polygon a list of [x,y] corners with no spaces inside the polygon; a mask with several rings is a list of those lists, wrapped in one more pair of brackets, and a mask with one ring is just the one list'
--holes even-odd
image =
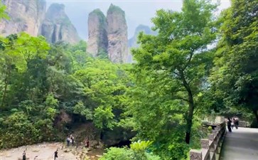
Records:
{"label": "hazy tapering cliff between the leftmost cliff and twin pillars", "polygon": [[75,27],[65,14],[65,6],[63,4],[51,4],[45,14],[41,35],[45,36],[49,43],[58,41],[78,43],[80,41]]}

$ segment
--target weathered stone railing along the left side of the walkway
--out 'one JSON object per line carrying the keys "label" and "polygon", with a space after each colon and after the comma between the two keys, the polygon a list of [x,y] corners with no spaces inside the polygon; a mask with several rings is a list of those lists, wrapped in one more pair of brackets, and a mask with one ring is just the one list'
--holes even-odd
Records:
{"label": "weathered stone railing along the left side of the walkway", "polygon": [[226,131],[226,124],[217,124],[213,134],[208,134],[208,139],[200,139],[202,149],[190,150],[190,160],[215,160],[220,156],[220,149]]}

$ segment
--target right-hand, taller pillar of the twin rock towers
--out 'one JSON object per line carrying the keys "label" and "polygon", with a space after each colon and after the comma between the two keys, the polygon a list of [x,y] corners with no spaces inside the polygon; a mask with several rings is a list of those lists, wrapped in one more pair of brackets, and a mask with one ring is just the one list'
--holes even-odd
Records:
{"label": "right-hand, taller pillar of the twin rock towers", "polygon": [[114,63],[127,61],[127,21],[122,9],[111,4],[107,10],[107,53]]}

